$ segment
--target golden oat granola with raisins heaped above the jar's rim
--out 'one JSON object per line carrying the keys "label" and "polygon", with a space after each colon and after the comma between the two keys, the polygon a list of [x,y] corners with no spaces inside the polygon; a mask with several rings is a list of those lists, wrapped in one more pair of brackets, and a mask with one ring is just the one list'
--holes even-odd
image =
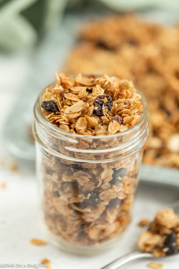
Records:
{"label": "golden oat granola with raisins heaped above the jar's rim", "polygon": [[143,111],[132,81],[95,75],[68,77],[46,88],[41,107],[48,121],[79,135],[113,135],[134,126]]}

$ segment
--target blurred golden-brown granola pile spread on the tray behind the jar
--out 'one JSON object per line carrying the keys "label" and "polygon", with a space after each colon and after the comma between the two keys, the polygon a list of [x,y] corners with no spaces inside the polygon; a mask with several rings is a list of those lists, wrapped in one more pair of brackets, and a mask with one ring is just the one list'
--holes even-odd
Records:
{"label": "blurred golden-brown granola pile spread on the tray behind the jar", "polygon": [[144,162],[179,167],[179,27],[126,14],[89,23],[79,37],[64,71],[132,80],[149,104]]}

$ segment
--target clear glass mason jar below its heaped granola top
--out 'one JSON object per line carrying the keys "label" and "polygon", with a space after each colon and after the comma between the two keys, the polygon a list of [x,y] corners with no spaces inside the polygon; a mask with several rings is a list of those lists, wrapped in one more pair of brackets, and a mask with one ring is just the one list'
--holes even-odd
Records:
{"label": "clear glass mason jar below its heaped granola top", "polygon": [[149,135],[147,102],[141,94],[141,119],[130,129],[84,136],[66,132],[45,118],[44,93],[45,89],[34,106],[33,130],[41,223],[51,241],[64,250],[93,254],[117,242],[131,221]]}

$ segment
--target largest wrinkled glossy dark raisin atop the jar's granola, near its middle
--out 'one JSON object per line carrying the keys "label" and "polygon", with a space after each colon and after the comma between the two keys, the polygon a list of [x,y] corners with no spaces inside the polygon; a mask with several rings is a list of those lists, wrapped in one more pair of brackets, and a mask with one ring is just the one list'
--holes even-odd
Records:
{"label": "largest wrinkled glossy dark raisin atop the jar's granola, near its middle", "polygon": [[[107,98],[107,103],[104,103],[104,98]],[[93,111],[93,114],[96,114],[98,116],[102,116],[103,115],[103,105],[104,105],[104,109],[107,108],[107,110],[111,110],[112,108],[112,97],[109,94],[103,94],[103,95],[98,95],[98,97],[96,97],[96,99],[93,102],[93,105],[95,108]]]}

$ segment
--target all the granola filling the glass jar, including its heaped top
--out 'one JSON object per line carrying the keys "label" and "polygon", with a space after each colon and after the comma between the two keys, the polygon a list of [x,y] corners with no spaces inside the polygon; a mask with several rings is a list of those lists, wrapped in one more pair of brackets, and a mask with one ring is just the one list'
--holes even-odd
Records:
{"label": "all the granola filling the glass jar, including its heaped top", "polygon": [[[64,157],[48,152],[38,155],[44,219],[50,233],[59,239],[80,246],[97,245],[117,236],[131,220],[142,149],[121,159],[118,150],[108,149],[134,134],[110,136],[140,120],[141,96],[131,81],[117,77],[67,77],[57,72],[57,79],[52,88],[46,88],[41,107],[50,123],[66,131],[61,139],[47,137]],[[74,139],[81,135],[78,150],[93,152],[67,151],[67,146],[76,147],[63,140],[67,132]],[[95,153],[95,149],[106,152]]]}

